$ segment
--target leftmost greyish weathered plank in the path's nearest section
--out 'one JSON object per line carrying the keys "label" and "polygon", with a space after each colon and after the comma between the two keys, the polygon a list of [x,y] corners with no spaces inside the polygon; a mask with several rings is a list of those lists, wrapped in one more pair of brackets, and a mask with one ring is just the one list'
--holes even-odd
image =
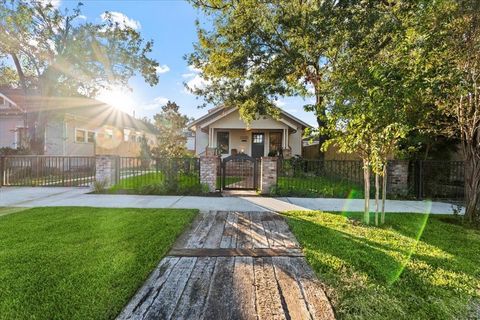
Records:
{"label": "leftmost greyish weathered plank in the path's nearest section", "polygon": [[179,260],[180,258],[175,257],[165,257],[162,259],[157,268],[155,268],[148,280],[140,290],[138,290],[117,319],[143,318],[144,314],[150,308],[150,305],[158,298],[160,290]]}

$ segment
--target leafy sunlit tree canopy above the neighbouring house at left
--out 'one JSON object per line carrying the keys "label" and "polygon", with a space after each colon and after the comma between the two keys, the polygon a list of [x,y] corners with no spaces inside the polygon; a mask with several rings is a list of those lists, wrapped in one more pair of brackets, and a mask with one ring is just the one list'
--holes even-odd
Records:
{"label": "leafy sunlit tree canopy above the neighbouring house at left", "polygon": [[43,95],[95,96],[136,73],[156,84],[152,41],[108,12],[101,23],[85,22],[81,6],[69,12],[48,1],[0,0],[0,71],[14,69],[13,84]]}

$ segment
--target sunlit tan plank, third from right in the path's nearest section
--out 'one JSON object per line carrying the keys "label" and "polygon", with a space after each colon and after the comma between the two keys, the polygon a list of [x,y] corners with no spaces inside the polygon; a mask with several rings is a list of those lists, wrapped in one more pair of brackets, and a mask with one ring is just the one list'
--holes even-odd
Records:
{"label": "sunlit tan plank, third from right in the path's nearest section", "polygon": [[254,259],[256,309],[259,320],[286,319],[272,258]]}

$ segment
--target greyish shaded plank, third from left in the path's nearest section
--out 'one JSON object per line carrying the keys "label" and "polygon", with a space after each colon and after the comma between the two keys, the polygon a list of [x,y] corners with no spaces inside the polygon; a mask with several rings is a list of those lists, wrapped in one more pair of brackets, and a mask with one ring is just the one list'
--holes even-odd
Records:
{"label": "greyish shaded plank, third from left in the path's nearest section", "polygon": [[210,289],[216,258],[198,258],[172,319],[200,319]]}

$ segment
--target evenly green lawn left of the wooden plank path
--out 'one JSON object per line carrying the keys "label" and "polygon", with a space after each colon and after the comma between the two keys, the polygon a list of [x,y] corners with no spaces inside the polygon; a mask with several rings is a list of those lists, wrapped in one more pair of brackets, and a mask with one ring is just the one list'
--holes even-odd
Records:
{"label": "evenly green lawn left of the wooden plank path", "polygon": [[0,319],[113,319],[196,210],[34,208],[0,217]]}

